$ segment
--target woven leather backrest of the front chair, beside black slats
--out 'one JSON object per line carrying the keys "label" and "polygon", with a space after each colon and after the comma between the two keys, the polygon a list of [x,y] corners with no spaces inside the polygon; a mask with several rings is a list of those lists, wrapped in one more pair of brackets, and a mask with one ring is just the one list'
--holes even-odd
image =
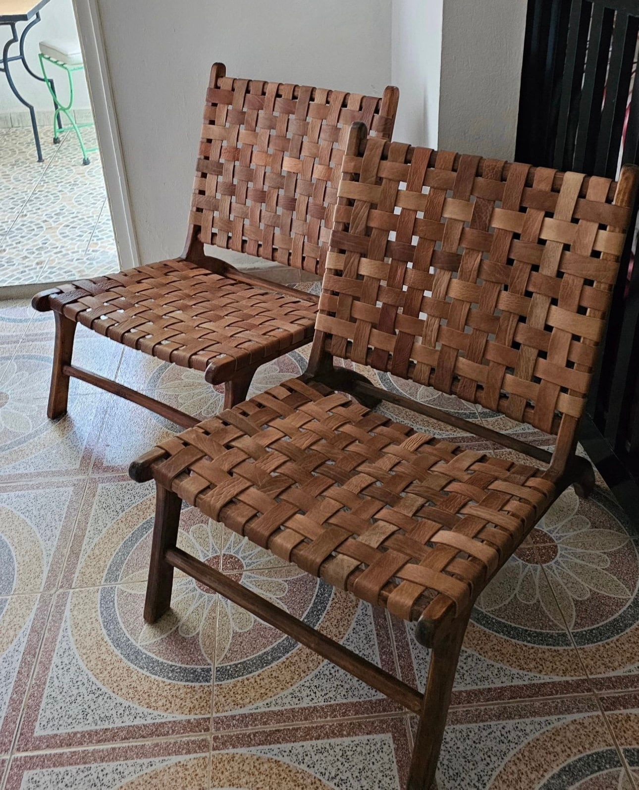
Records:
{"label": "woven leather backrest of the front chair, beside black slats", "polygon": [[344,156],[325,352],[543,431],[576,425],[637,168],[615,183],[364,134],[354,126]]}

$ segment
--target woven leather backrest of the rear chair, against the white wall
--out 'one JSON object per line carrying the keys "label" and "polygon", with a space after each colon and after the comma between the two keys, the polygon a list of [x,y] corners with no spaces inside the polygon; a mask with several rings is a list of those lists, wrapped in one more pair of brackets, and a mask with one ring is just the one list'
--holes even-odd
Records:
{"label": "woven leather backrest of the rear chair, against the white wall", "polygon": [[240,80],[214,64],[190,213],[201,242],[323,273],[351,123],[390,139],[398,96]]}

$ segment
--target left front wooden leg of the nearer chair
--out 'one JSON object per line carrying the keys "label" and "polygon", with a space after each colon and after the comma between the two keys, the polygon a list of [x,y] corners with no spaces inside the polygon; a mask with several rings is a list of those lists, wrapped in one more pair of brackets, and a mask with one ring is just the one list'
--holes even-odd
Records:
{"label": "left front wooden leg of the nearer chair", "polygon": [[151,562],[146,584],[145,620],[155,623],[171,606],[173,566],[164,559],[167,550],[178,540],[182,500],[156,483],[156,520],[153,525]]}

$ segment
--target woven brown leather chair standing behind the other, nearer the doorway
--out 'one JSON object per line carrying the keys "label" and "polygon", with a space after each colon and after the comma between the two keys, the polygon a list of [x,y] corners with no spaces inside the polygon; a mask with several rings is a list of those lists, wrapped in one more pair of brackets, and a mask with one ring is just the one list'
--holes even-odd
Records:
{"label": "woven brown leather chair standing behind the other, nearer the doorway", "polygon": [[240,273],[204,245],[321,274],[351,122],[389,139],[397,88],[382,98],[225,76],[212,66],[181,258],[40,292],[55,311],[47,414],[66,412],[70,376],[189,427],[193,417],[71,364],[77,322],[111,340],[205,371],[224,405],[246,397],[254,371],[310,342],[318,297]]}

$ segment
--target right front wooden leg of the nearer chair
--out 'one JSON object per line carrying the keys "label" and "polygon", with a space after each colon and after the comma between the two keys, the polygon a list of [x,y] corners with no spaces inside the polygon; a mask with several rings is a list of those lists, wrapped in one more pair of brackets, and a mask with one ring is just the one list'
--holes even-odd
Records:
{"label": "right front wooden leg of the nearer chair", "polygon": [[469,616],[465,615],[455,630],[436,641],[431,651],[426,694],[415,736],[406,790],[430,790],[434,784],[457,661]]}

